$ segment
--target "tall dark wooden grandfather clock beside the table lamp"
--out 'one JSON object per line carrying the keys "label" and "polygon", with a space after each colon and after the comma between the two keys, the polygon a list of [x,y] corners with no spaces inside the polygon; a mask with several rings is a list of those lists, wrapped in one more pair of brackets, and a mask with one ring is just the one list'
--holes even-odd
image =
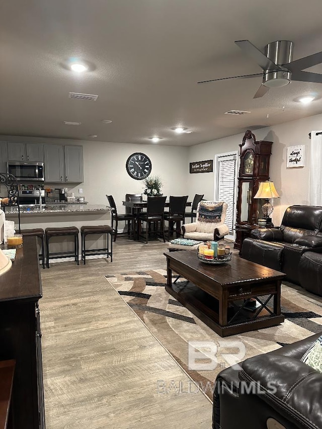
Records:
{"label": "tall dark wooden grandfather clock beside the table lamp", "polygon": [[241,251],[246,237],[251,235],[254,224],[258,221],[261,199],[254,199],[259,183],[269,180],[270,156],[272,141],[256,141],[251,130],[247,130],[240,147],[240,164],[238,173],[238,193],[236,208],[236,241],[234,248]]}

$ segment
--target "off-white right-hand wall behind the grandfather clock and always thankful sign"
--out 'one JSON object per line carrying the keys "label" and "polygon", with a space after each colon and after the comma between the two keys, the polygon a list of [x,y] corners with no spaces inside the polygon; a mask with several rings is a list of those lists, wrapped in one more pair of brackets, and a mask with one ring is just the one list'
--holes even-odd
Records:
{"label": "off-white right-hand wall behind the grandfather clock and always thankful sign", "polygon": [[[250,127],[250,129],[252,129]],[[310,168],[310,140],[308,133],[311,130],[322,129],[322,115],[310,116],[297,121],[252,130],[257,140],[273,141],[270,159],[270,180],[275,184],[281,198],[271,200],[274,206],[273,223],[280,225],[285,209],[293,204],[309,204],[309,168]],[[246,131],[246,130],[245,130]],[[214,159],[215,154],[239,150],[245,133],[213,140],[189,148],[189,161]],[[286,152],[288,146],[304,144],[305,166],[286,168]],[[205,194],[205,198],[214,196],[214,173],[191,174],[188,178],[188,187],[191,195]]]}

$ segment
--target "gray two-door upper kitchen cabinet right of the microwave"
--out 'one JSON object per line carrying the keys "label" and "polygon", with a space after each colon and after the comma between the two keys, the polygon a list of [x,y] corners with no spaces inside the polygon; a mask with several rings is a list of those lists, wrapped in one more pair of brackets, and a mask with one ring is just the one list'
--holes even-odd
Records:
{"label": "gray two-door upper kitchen cabinet right of the microwave", "polygon": [[83,182],[83,146],[45,144],[45,182]]}

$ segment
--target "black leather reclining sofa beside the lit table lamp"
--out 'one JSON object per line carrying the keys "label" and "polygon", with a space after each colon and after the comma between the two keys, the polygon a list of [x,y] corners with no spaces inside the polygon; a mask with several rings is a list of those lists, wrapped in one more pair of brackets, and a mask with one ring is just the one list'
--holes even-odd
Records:
{"label": "black leather reclining sofa beside the lit table lamp", "polygon": [[253,229],[241,257],[282,271],[286,280],[322,295],[322,207],[288,207],[279,228]]}

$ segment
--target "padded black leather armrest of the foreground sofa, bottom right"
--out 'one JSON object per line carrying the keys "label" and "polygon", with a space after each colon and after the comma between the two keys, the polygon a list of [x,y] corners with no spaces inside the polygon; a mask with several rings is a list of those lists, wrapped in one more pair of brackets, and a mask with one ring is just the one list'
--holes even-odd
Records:
{"label": "padded black leather armrest of the foreground sofa, bottom right", "polygon": [[243,363],[239,378],[246,393],[256,389],[256,396],[287,416],[294,427],[322,427],[322,403],[316,400],[322,395],[322,374],[303,362],[260,355]]}

